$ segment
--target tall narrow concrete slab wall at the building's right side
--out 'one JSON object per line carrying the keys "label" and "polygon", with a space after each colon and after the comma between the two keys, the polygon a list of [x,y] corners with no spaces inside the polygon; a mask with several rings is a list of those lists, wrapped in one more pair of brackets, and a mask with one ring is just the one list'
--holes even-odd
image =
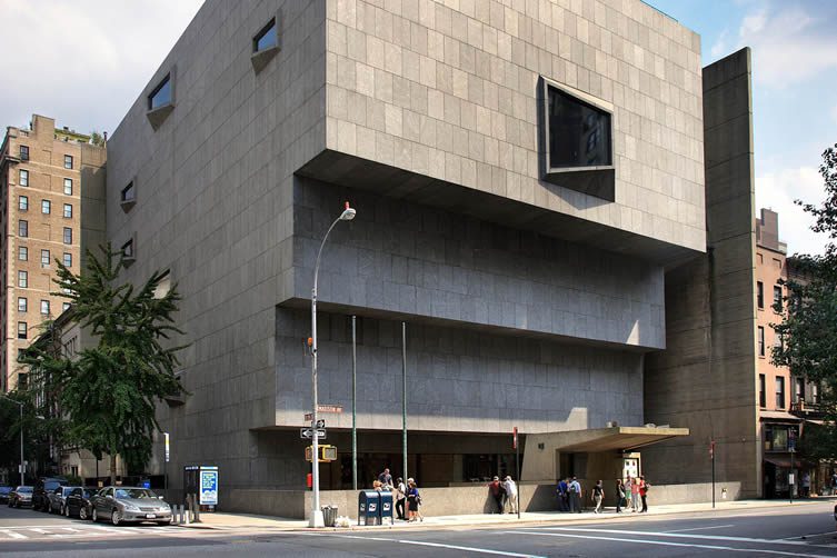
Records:
{"label": "tall narrow concrete slab wall at the building's right side", "polygon": [[650,478],[705,482],[715,439],[717,478],[747,497],[761,489],[750,71],[749,49],[704,70],[708,252],[666,273],[667,349],[645,373],[646,420],[691,435],[642,450]]}

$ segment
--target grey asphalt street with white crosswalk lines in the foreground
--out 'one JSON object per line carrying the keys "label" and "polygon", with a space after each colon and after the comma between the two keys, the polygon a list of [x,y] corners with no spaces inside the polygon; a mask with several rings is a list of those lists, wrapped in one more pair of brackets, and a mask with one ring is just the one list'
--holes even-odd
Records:
{"label": "grey asphalt street with white crosswalk lines in the foreground", "polygon": [[480,528],[112,527],[0,508],[0,554],[23,556],[795,556],[837,557],[834,504]]}

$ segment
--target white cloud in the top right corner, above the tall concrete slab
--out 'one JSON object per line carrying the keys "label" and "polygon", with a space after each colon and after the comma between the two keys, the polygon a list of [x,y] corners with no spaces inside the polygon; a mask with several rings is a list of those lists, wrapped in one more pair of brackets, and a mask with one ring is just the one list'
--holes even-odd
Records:
{"label": "white cloud in the top right corner, above the tall concrete slab", "polygon": [[738,31],[738,47],[753,49],[757,83],[786,87],[837,69],[834,3],[778,2],[749,12]]}

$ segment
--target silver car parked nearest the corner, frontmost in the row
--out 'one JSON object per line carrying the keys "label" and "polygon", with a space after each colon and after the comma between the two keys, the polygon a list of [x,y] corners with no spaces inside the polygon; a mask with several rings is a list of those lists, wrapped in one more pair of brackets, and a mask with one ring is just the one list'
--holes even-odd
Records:
{"label": "silver car parked nearest the corner, frontmost in the row", "polygon": [[171,508],[149,488],[107,487],[92,499],[93,521],[110,519],[113,525],[126,521],[171,522]]}

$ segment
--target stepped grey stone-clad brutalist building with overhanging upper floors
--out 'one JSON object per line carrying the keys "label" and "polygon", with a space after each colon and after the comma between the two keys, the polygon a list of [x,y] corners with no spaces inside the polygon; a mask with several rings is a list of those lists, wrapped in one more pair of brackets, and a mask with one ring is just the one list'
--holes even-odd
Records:
{"label": "stepped grey stone-clad brutalist building with overhanging upper floors", "polygon": [[207,1],[108,143],[128,279],[183,296],[172,486],[217,465],[222,507],[302,512],[346,200],[323,489],[351,487],[350,316],[361,486],[401,472],[402,323],[421,486],[515,475],[514,427],[524,480],[640,469],[686,434],[645,426],[644,360],[706,249],[703,113],[699,37],[639,0]]}

